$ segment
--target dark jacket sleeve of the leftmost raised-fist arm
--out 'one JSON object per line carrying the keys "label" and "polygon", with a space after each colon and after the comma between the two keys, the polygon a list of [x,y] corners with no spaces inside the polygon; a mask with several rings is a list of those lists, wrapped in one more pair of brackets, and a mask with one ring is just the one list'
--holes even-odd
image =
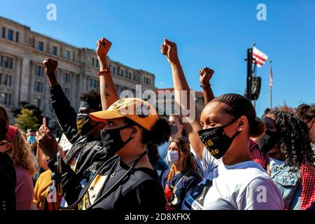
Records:
{"label": "dark jacket sleeve of the leftmost raised-fist arm", "polygon": [[74,144],[80,137],[76,127],[77,113],[71,106],[69,99],[66,98],[66,95],[62,91],[62,87],[60,85],[50,87],[50,94],[52,108],[55,111],[55,115],[60,127],[62,128],[62,132],[64,132],[66,138],[69,139],[71,144]]}

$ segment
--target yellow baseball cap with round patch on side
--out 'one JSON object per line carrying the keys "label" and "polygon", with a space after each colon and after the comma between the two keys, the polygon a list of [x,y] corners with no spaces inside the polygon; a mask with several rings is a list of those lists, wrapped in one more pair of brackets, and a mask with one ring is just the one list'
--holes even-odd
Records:
{"label": "yellow baseball cap with round patch on side", "polygon": [[158,120],[158,112],[151,104],[139,98],[118,99],[105,111],[90,113],[92,120],[104,122],[107,119],[129,118],[150,131]]}

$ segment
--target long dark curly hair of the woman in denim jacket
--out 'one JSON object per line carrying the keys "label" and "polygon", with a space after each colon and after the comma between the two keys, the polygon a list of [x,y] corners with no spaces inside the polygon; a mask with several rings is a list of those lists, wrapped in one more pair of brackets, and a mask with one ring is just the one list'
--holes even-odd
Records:
{"label": "long dark curly hair of the woman in denim jacket", "polygon": [[315,162],[315,153],[311,150],[311,140],[307,125],[294,113],[276,111],[276,130],[279,133],[277,145],[280,146],[286,163],[293,167]]}

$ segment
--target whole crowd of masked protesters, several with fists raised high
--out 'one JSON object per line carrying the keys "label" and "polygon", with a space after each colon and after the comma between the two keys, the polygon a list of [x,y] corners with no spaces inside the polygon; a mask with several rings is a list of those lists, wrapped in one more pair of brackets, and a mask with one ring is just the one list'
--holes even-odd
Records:
{"label": "whole crowd of masked protesters, several with fists raised high", "polygon": [[[49,127],[27,133],[0,105],[0,210],[314,210],[315,106],[258,118],[240,94],[214,97],[214,71],[200,69],[205,107],[195,116],[158,116],[148,102],[118,98],[107,55],[97,41],[100,90],[82,92],[74,109],[45,58],[52,108],[71,143]],[[190,96],[176,43],[161,45],[174,90]],[[128,110],[126,110],[128,109]]]}

